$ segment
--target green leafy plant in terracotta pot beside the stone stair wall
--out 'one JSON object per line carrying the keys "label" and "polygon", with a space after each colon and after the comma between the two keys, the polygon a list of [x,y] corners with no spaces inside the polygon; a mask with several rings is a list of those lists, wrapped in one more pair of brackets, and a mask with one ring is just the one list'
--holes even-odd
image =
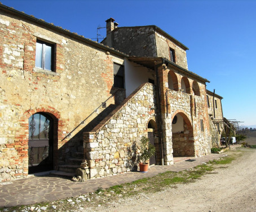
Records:
{"label": "green leafy plant in terracotta pot beside the stone stair wall", "polygon": [[155,147],[149,143],[149,139],[144,136],[140,139],[140,163],[139,169],[141,172],[148,172],[148,160],[155,154]]}

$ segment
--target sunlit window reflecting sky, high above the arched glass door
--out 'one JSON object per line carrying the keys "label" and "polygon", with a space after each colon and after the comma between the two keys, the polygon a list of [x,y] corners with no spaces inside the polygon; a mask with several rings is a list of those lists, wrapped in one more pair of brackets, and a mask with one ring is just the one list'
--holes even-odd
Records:
{"label": "sunlit window reflecting sky, high above the arched glass door", "polygon": [[37,40],[36,67],[53,71],[54,45]]}

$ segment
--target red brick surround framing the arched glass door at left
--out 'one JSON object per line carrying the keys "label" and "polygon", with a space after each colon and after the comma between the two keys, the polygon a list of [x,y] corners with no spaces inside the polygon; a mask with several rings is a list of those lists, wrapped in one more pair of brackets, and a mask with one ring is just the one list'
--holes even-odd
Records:
{"label": "red brick surround framing the arched glass door at left", "polygon": [[23,167],[23,173],[20,175],[28,175],[28,139],[29,139],[29,117],[35,113],[45,113],[54,121],[54,168],[58,167],[58,149],[61,146],[63,134],[63,121],[60,119],[60,113],[53,107],[29,109],[25,111],[19,119],[20,129],[15,134],[13,147],[19,154],[17,164]]}

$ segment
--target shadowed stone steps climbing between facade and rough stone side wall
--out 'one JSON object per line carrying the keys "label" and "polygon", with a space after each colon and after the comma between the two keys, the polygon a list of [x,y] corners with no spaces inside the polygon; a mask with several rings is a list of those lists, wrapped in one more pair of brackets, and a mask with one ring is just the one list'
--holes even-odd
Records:
{"label": "shadowed stone steps climbing between facade and rough stone side wall", "polygon": [[[97,126],[105,117],[111,113],[117,105],[111,104],[107,108],[104,109],[98,116],[96,116],[92,121],[90,121],[83,129],[82,132],[91,131]],[[81,167],[81,164],[86,162],[84,156],[84,148],[83,148],[83,133],[79,133],[78,138],[76,138],[76,142],[74,142],[73,146],[70,147],[70,152],[68,156],[65,157],[62,164],[59,165],[58,171],[52,171],[51,174],[64,176],[68,178],[72,178],[76,175],[76,170]]]}

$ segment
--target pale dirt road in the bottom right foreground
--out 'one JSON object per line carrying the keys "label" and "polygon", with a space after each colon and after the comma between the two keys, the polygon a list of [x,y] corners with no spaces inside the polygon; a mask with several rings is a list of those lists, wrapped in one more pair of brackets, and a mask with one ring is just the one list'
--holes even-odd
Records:
{"label": "pale dirt road in the bottom right foreground", "polygon": [[94,211],[256,211],[256,150],[215,169],[195,183],[153,194],[121,198]]}

